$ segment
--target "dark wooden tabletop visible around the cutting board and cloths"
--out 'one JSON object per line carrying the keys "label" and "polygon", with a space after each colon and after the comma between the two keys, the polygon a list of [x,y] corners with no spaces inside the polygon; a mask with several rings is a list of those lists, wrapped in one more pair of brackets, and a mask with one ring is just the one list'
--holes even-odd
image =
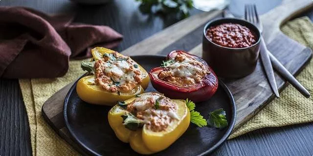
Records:
{"label": "dark wooden tabletop visible around the cutting board and cloths", "polygon": [[[280,0],[254,0],[261,13],[280,4]],[[232,0],[229,9],[242,16],[244,3]],[[76,21],[109,25],[124,35],[115,49],[124,50],[165,27],[173,18],[142,15],[134,0],[114,0],[106,5],[77,5],[68,0],[0,0],[0,6],[26,6],[47,13],[76,12]],[[193,10],[192,14],[201,11]],[[313,19],[313,10],[304,14]],[[1,15],[0,15],[1,16]],[[16,79],[0,79],[0,156],[31,155],[29,125],[22,93]],[[264,128],[226,141],[216,156],[313,156],[313,123]]]}

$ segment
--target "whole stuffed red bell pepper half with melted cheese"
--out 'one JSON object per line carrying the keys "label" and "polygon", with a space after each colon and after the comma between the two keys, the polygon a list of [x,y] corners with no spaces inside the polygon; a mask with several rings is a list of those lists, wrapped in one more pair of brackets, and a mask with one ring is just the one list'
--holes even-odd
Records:
{"label": "whole stuffed red bell pepper half with melted cheese", "polygon": [[172,51],[149,76],[153,87],[169,98],[200,102],[211,98],[218,88],[218,78],[208,64],[184,51]]}

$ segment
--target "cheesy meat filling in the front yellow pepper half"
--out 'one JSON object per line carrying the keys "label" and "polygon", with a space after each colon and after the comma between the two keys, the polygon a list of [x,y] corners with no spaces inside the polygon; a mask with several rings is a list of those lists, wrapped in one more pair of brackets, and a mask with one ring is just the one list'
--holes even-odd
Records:
{"label": "cheesy meat filling in the front yellow pepper half", "polygon": [[154,132],[164,131],[173,120],[179,119],[176,103],[157,93],[136,98],[127,106],[127,111],[142,120],[147,128]]}

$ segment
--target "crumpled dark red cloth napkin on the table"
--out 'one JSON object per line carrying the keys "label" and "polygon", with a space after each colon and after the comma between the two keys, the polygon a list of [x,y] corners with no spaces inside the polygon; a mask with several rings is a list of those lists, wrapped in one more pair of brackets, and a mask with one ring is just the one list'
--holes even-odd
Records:
{"label": "crumpled dark red cloth napkin on the table", "polygon": [[0,7],[0,77],[64,76],[71,59],[90,57],[90,48],[113,48],[122,35],[108,26],[72,23],[23,7]]}

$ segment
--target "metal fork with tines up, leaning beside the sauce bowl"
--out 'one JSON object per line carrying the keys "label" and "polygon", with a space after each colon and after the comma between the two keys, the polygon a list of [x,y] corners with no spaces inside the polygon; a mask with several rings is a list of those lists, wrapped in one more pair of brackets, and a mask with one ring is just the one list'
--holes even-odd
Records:
{"label": "metal fork with tines up, leaning beside the sauce bowl", "polygon": [[[258,13],[256,11],[256,6],[253,4],[247,4],[245,5],[245,19],[253,23],[259,31],[262,33],[263,31],[263,26],[262,23],[259,19]],[[274,94],[276,95],[277,98],[279,98],[279,93],[277,89],[277,84],[274,76],[274,71],[272,67],[272,63],[270,62],[269,56],[268,56],[268,49],[266,47],[266,44],[264,42],[264,39],[262,35],[260,36],[261,41],[260,41],[260,57],[261,61],[263,63],[263,67],[266,73],[266,76],[268,78],[268,82],[270,87],[272,88]]]}

